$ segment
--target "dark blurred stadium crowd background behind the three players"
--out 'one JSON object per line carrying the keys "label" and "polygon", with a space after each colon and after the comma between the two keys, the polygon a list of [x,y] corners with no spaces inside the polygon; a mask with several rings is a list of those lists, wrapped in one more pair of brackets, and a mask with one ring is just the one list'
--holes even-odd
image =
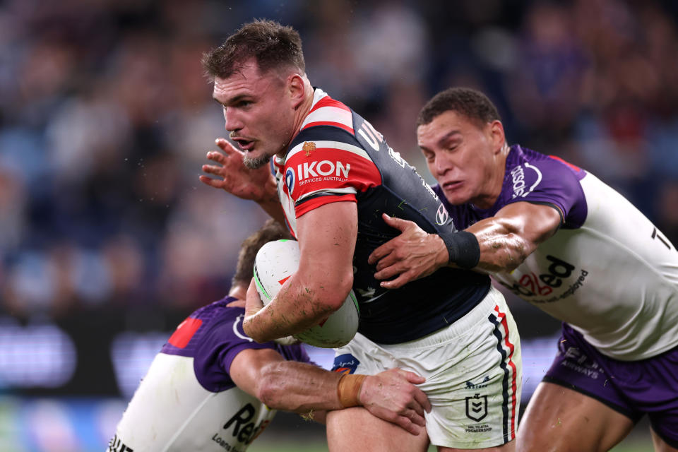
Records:
{"label": "dark blurred stadium crowd background behind the three players", "polygon": [[[595,172],[676,244],[677,5],[0,1],[0,450],[102,451],[172,329],[227,292],[265,217],[198,182],[225,136],[199,59],[242,23],[295,26],[311,82],[429,181],[419,108],[480,88],[510,142]],[[509,302],[527,402],[559,323]],[[250,450],[326,450],[322,435],[278,415]],[[646,450],[646,424],[615,449]]]}

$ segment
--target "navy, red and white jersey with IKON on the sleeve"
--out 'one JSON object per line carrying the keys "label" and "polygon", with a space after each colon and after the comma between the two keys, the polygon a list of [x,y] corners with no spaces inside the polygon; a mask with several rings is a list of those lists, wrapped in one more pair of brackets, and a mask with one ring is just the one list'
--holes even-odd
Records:
{"label": "navy, red and white jersey with IKON on the sleeve", "polygon": [[456,230],[438,196],[381,133],[322,90],[316,88],[301,130],[274,166],[292,234],[297,218],[314,208],[357,203],[353,290],[360,306],[358,331],[367,338],[384,344],[420,338],[460,319],[487,295],[487,275],[452,268],[396,290],[379,286],[367,257],[400,233],[386,225],[382,213],[412,220],[431,233]]}

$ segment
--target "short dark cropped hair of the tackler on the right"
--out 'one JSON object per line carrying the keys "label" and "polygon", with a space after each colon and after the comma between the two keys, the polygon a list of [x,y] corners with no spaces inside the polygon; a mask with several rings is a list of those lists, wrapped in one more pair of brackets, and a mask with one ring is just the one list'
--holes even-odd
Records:
{"label": "short dark cropped hair of the tackler on the right", "polygon": [[417,127],[429,124],[450,110],[475,120],[482,126],[495,120],[501,121],[492,101],[480,91],[471,88],[448,88],[434,95],[424,105],[417,117]]}

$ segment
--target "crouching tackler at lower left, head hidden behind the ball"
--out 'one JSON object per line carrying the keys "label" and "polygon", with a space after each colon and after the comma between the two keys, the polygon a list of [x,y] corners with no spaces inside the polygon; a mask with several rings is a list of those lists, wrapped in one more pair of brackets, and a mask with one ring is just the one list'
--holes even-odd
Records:
{"label": "crouching tackler at lower left, head hidden behind the ball", "polygon": [[411,434],[429,402],[412,372],[342,374],[309,362],[301,344],[256,343],[242,331],[256,251],[289,234],[274,220],[246,239],[229,296],[198,309],[162,347],[111,439],[109,452],[244,451],[275,410],[309,413],[362,405]]}

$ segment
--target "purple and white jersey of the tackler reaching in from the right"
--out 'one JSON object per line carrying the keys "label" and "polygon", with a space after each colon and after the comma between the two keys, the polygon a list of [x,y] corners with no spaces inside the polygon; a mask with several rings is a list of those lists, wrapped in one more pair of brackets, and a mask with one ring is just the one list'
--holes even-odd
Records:
{"label": "purple and white jersey of the tackler reaching in from the right", "polygon": [[678,345],[678,252],[624,196],[558,157],[513,145],[492,208],[446,207],[464,229],[518,201],[553,206],[561,227],[495,280],[609,357],[646,359]]}

